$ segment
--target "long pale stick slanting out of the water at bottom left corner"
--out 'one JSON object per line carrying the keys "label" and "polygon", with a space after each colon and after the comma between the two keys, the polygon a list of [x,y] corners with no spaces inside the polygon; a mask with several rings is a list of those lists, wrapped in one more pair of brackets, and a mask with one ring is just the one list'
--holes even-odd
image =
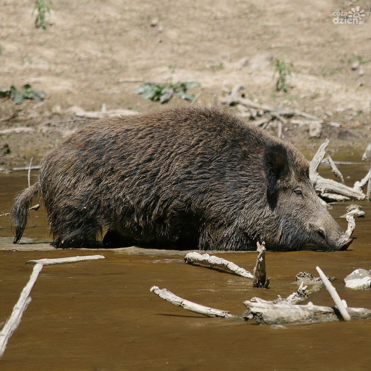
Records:
{"label": "long pale stick slanting out of the water at bottom left corner", "polygon": [[30,292],[33,288],[33,285],[35,285],[35,282],[37,280],[37,277],[39,276],[39,273],[43,269],[42,264],[36,264],[35,267],[33,267],[30,280],[28,281],[27,285],[24,286],[24,289],[22,290],[22,293],[13,308],[12,315],[4,325],[3,329],[0,332],[0,358],[3,357],[4,351],[6,349],[6,346],[8,344],[8,341],[13,335],[13,332],[17,329],[18,325],[20,324],[20,321],[22,319],[24,311],[26,311],[27,306],[29,305],[31,299],[29,298]]}

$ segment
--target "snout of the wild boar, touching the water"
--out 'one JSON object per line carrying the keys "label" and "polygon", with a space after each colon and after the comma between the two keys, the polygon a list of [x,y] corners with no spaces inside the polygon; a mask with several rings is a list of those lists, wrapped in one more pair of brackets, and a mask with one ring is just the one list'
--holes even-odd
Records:
{"label": "snout of the wild boar, touching the water", "polygon": [[338,223],[336,223],[334,219],[332,220],[333,223],[330,223],[332,225],[329,226],[329,228],[327,229],[322,226],[312,225],[313,242],[316,243],[318,246],[327,247],[327,249],[331,251],[347,250],[353,240],[344,233],[342,228],[339,226]]}

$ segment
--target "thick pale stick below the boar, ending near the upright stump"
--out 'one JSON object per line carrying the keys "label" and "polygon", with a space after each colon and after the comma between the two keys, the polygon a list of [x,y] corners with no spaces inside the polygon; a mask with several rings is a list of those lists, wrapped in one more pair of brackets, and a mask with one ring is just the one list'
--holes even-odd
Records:
{"label": "thick pale stick below the boar, ending near the upright stump", "polygon": [[237,276],[253,278],[253,275],[246,269],[243,269],[238,265],[217,256],[210,256],[209,254],[188,253],[187,255],[185,255],[184,260],[187,264],[207,265],[210,268],[216,267],[226,270],[227,272],[233,273]]}

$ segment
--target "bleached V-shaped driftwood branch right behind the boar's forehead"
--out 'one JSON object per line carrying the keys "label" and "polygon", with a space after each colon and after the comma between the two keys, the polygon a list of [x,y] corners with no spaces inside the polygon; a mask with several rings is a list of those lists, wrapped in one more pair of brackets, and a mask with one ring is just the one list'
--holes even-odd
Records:
{"label": "bleached V-shaped driftwood branch right behind the boar's forehead", "polygon": [[345,201],[350,198],[364,200],[366,197],[365,194],[357,187],[351,188],[345,184],[338,183],[335,180],[323,178],[318,174],[318,167],[324,158],[328,144],[329,140],[326,139],[326,141],[319,147],[309,166],[309,178],[317,194],[320,197],[336,201]]}

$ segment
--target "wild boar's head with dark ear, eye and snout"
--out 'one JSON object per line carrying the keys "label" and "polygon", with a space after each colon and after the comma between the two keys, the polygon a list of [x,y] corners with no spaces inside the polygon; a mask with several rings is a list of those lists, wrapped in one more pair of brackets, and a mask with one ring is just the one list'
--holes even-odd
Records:
{"label": "wild boar's head with dark ear, eye and snout", "polygon": [[346,250],[352,240],[321,204],[303,155],[290,145],[273,143],[265,148],[263,162],[267,203],[276,229],[269,243],[285,249],[314,243],[327,250]]}

